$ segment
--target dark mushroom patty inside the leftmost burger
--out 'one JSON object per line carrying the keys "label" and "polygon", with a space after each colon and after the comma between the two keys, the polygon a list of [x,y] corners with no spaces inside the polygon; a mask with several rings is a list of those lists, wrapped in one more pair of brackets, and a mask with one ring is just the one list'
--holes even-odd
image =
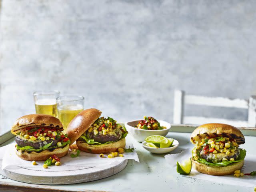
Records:
{"label": "dark mushroom patty inside the leftmost burger", "polygon": [[24,138],[20,138],[20,136],[16,136],[15,141],[18,144],[18,146],[20,146],[20,147],[31,146],[31,147],[34,147],[35,149],[39,149],[40,147],[47,145],[48,143],[51,143],[51,142],[52,142],[51,147],[55,146],[58,142],[58,139],[55,139],[55,140],[50,139],[48,141],[46,141],[46,140],[44,140],[44,141],[40,141],[40,140],[28,141]]}

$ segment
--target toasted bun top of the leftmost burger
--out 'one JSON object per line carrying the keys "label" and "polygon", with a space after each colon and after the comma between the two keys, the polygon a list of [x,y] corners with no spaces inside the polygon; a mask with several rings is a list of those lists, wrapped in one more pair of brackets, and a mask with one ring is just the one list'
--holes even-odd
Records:
{"label": "toasted bun top of the leftmost burger", "polygon": [[46,114],[30,114],[18,118],[16,122],[14,122],[11,132],[12,134],[17,135],[21,130],[25,130],[27,127],[31,126],[52,126],[53,128],[63,130],[62,123],[54,116]]}

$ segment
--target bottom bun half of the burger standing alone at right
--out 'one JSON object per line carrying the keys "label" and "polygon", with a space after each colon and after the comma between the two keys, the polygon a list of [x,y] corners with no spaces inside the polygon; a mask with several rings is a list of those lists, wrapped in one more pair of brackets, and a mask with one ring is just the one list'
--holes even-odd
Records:
{"label": "bottom bun half of the burger standing alone at right", "polygon": [[244,160],[240,162],[234,162],[228,166],[210,166],[206,164],[199,163],[195,161],[193,158],[192,166],[195,170],[200,173],[208,174],[208,175],[230,175],[233,174],[235,170],[240,170],[244,166]]}

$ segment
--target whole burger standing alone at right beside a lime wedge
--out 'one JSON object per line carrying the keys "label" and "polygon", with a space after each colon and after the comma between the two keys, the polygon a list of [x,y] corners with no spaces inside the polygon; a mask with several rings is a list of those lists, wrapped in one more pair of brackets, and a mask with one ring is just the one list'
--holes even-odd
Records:
{"label": "whole burger standing alone at right beside a lime wedge", "polygon": [[196,128],[190,141],[192,166],[198,172],[209,175],[229,175],[244,165],[246,150],[239,148],[245,143],[238,128],[227,124],[211,123]]}

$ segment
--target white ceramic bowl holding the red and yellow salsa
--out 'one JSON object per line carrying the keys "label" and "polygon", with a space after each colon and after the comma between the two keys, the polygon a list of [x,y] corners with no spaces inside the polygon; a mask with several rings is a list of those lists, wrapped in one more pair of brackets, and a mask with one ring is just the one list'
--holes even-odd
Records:
{"label": "white ceramic bowl holding the red and yellow salsa", "polygon": [[160,126],[165,126],[166,129],[162,130],[144,130],[144,129],[138,129],[135,128],[135,126],[139,123],[140,120],[134,120],[130,122],[126,122],[124,125],[128,131],[138,142],[143,142],[148,136],[151,135],[162,135],[166,136],[169,132],[169,129],[171,128],[171,124],[162,121],[162,120],[157,120],[160,123]]}

